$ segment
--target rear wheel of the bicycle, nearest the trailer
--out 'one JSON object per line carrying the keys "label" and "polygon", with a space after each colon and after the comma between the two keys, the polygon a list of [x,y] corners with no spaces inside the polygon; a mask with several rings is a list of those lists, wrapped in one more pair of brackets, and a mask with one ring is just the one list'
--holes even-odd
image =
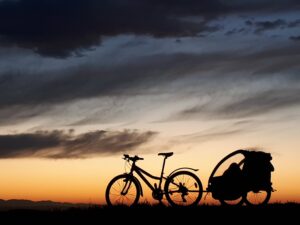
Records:
{"label": "rear wheel of the bicycle, nearest the trailer", "polygon": [[165,195],[172,206],[195,206],[203,194],[200,179],[189,171],[178,171],[165,184]]}

